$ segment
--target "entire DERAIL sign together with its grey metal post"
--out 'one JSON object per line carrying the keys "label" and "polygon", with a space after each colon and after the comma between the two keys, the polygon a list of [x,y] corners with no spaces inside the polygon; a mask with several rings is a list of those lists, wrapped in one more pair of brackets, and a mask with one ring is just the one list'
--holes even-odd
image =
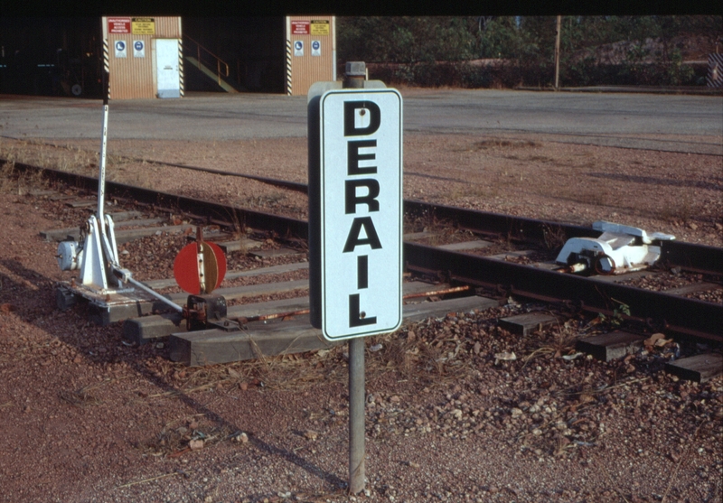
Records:
{"label": "entire DERAIL sign together with its grey metal post", "polygon": [[[349,340],[349,492],[364,489],[364,340],[401,324],[402,101],[347,63],[309,90],[312,325]],[[325,91],[325,92],[324,92]]]}

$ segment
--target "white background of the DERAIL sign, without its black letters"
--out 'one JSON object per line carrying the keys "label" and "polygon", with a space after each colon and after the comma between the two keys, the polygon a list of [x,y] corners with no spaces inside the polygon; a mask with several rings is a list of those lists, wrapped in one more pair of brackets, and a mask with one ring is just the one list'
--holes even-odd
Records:
{"label": "white background of the DERAIL sign, without its black letters", "polygon": [[[344,136],[344,101],[371,101],[380,107],[379,129],[368,136]],[[320,101],[320,206],[321,206],[321,310],[322,332],[327,340],[344,340],[389,333],[399,329],[402,321],[402,99],[399,91],[383,89],[334,89],[327,91]],[[362,126],[360,126],[362,127]],[[375,178],[380,182],[380,211],[365,214],[376,219],[375,228],[382,243],[382,250],[370,250],[369,287],[360,292],[360,311],[369,312],[377,318],[373,324],[350,327],[350,295],[357,284],[358,254],[342,255],[344,242],[350,234],[349,222],[353,215],[343,214],[344,187],[340,178],[347,178],[348,150],[350,140],[374,138],[374,163],[377,173],[363,178]],[[360,154],[370,154],[371,149],[361,149]],[[370,161],[360,161],[359,166]],[[330,170],[333,170],[330,171]],[[383,171],[382,171],[383,170]],[[389,174],[392,173],[392,174]],[[327,186],[333,179],[333,187]],[[386,186],[385,186],[386,185]],[[390,187],[391,185],[391,187]],[[341,191],[340,191],[341,189]],[[340,195],[341,192],[341,195]],[[341,215],[336,215],[340,212]],[[363,209],[366,205],[359,204]],[[332,210],[333,207],[333,210]],[[327,215],[327,210],[331,212]],[[383,210],[383,212],[382,212]],[[366,229],[366,228],[364,228]],[[365,232],[362,231],[362,232]],[[361,234],[360,234],[361,236]],[[343,287],[338,287],[345,282]],[[349,287],[348,283],[352,286]],[[374,284],[372,284],[372,282]],[[381,284],[380,284],[381,282]],[[365,294],[362,294],[365,293]]]}

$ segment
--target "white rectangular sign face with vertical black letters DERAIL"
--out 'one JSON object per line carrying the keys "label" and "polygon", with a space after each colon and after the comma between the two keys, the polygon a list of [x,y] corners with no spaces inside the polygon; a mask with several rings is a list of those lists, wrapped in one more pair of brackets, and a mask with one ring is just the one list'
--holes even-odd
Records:
{"label": "white rectangular sign face with vertical black letters DERAIL", "polygon": [[327,340],[395,331],[402,320],[399,92],[325,92],[319,102],[319,139],[315,232],[321,274],[318,288],[312,287],[321,310],[317,328]]}

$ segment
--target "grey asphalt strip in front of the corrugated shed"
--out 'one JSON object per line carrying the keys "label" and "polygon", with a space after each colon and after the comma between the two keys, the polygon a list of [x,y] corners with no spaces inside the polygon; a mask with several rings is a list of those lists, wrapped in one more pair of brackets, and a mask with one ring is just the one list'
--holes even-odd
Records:
{"label": "grey asphalt strip in front of the corrugated shed", "polygon": [[[402,90],[406,134],[543,141],[723,155],[723,97],[494,89]],[[0,135],[99,138],[100,100],[0,95]],[[304,137],[306,98],[189,93],[111,100],[109,139]]]}

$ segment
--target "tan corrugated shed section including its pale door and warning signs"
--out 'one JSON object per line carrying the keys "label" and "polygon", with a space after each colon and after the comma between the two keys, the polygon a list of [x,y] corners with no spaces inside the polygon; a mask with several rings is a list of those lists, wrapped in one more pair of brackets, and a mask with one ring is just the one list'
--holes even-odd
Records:
{"label": "tan corrugated shed section including its pale door and warning signs", "polygon": [[104,16],[101,23],[109,98],[183,96],[180,17]]}

